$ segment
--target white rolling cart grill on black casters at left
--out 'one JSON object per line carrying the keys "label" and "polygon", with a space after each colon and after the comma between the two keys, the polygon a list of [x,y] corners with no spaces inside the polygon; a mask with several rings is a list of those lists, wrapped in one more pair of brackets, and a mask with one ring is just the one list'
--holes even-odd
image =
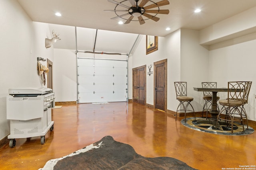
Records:
{"label": "white rolling cart grill on black casters at left", "polygon": [[16,139],[45,135],[54,129],[52,107],[55,107],[54,92],[50,88],[9,89],[6,97],[7,119],[10,120],[9,146],[15,147]]}

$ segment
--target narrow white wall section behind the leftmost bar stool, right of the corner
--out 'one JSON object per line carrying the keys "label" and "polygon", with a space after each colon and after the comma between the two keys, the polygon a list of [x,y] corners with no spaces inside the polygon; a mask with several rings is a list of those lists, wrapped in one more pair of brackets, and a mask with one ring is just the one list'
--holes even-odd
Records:
{"label": "narrow white wall section behind the leftmost bar stool, right of the corner", "polygon": [[187,82],[187,96],[194,98],[191,102],[195,111],[202,111],[203,93],[194,91],[202,87],[201,82],[216,81],[208,77],[209,51],[199,45],[199,31],[181,29],[181,81]]}

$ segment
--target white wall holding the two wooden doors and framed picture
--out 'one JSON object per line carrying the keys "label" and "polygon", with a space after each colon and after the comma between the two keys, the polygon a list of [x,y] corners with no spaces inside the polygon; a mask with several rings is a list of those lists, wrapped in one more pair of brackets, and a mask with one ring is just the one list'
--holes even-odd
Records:
{"label": "white wall holding the two wooden doors and framed picture", "polygon": [[[129,57],[130,58],[130,57]],[[176,110],[174,81],[180,81],[180,30],[166,37],[158,37],[158,50],[146,55],[146,35],[142,35],[134,54],[132,68],[167,59],[167,109]],[[129,68],[129,69],[132,69]],[[146,67],[148,72],[148,67]],[[154,72],[154,67],[151,68]],[[129,82],[132,82],[132,71]],[[132,84],[129,86],[129,99],[132,99]],[[146,103],[154,105],[154,75],[146,75]]]}

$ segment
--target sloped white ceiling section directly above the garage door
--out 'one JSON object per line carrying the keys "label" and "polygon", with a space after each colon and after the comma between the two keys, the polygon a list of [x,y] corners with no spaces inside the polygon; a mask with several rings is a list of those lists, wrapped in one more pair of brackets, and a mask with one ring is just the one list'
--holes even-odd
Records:
{"label": "sloped white ceiling section directly above the garage door", "polygon": [[60,34],[61,40],[54,43],[54,48],[57,49],[76,49],[77,44],[78,51],[129,54],[138,37],[138,34],[133,33],[75,28],[67,25],[49,24],[49,27]]}

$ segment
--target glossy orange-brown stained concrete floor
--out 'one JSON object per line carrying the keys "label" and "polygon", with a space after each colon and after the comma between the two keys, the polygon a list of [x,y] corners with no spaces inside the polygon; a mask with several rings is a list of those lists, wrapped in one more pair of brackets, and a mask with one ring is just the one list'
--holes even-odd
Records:
{"label": "glossy orange-brown stained concrete floor", "polygon": [[[182,118],[181,118],[182,119]],[[110,135],[146,157],[173,157],[199,170],[256,168],[256,133],[216,135],[185,127],[169,113],[129,102],[74,104],[52,109],[54,131],[16,139],[0,149],[1,170],[37,170],[54,158],[86,147]],[[250,125],[250,124],[249,124]],[[256,129],[255,125],[250,125]]]}

